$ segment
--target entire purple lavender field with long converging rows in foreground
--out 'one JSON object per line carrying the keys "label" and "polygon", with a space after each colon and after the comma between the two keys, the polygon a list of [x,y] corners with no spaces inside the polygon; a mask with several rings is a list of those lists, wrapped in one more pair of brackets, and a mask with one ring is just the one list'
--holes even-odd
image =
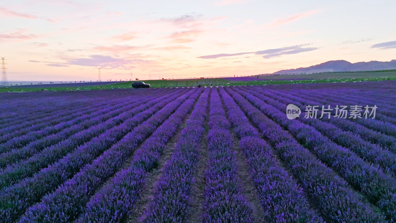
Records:
{"label": "entire purple lavender field with long converging rows in foreground", "polygon": [[[396,221],[396,81],[34,91],[0,103],[0,222]],[[304,117],[309,106],[317,118]]]}

